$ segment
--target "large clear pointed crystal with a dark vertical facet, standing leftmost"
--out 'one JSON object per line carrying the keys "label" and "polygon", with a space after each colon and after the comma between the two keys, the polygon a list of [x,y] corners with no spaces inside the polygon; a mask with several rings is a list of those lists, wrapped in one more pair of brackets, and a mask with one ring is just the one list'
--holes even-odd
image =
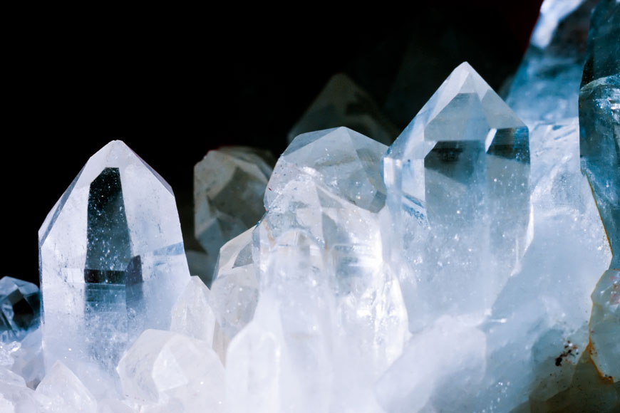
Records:
{"label": "large clear pointed crystal with a dark vertical facet, standing leftmost", "polygon": [[123,142],[88,160],[39,230],[48,367],[113,392],[128,343],[170,326],[189,279],[177,217],[172,189]]}

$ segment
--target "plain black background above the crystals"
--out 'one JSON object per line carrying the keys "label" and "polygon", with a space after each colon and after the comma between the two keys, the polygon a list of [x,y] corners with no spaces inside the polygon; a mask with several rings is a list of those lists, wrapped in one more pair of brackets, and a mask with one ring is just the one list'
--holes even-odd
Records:
{"label": "plain black background above the crystals", "polygon": [[[38,10],[4,47],[4,266],[38,283],[37,231],[88,157],[122,139],[191,210],[192,168],[219,145],[278,155],[326,81],[344,72],[381,106],[406,51],[410,115],[463,61],[498,90],[516,70],[540,0],[407,9]],[[238,9],[237,9],[238,8]],[[53,17],[52,17],[53,16]],[[9,16],[10,18],[10,16]],[[190,222],[191,224],[191,222]],[[185,229],[186,243],[192,243]]]}

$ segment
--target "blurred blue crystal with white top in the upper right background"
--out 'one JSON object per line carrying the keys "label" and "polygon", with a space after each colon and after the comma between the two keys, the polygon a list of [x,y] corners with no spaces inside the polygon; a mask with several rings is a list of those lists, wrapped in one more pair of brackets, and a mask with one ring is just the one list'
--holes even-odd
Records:
{"label": "blurred blue crystal with white top in the upper right background", "polygon": [[530,127],[577,116],[590,13],[596,0],[545,0],[506,103]]}

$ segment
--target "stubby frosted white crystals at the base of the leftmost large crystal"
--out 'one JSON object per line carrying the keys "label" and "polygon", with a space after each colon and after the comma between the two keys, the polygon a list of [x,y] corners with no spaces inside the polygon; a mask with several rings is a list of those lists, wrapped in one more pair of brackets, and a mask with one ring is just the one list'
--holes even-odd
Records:
{"label": "stubby frosted white crystals at the base of the leftmost large crystal", "polygon": [[125,352],[117,370],[125,396],[152,404],[153,411],[225,411],[224,367],[203,341],[145,330]]}

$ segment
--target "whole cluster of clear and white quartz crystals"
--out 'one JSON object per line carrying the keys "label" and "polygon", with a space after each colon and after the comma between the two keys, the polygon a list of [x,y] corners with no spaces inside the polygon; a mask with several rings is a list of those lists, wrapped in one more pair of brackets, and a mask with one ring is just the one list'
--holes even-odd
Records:
{"label": "whole cluster of clear and white quartz crystals", "polygon": [[[564,66],[553,28],[582,6],[558,4],[515,112],[463,63],[390,147],[337,127],[273,169],[210,152],[212,280],[172,189],[103,147],[41,226],[41,295],[0,280],[0,412],[619,411],[620,4]],[[579,59],[579,93],[545,78],[579,85]]]}

